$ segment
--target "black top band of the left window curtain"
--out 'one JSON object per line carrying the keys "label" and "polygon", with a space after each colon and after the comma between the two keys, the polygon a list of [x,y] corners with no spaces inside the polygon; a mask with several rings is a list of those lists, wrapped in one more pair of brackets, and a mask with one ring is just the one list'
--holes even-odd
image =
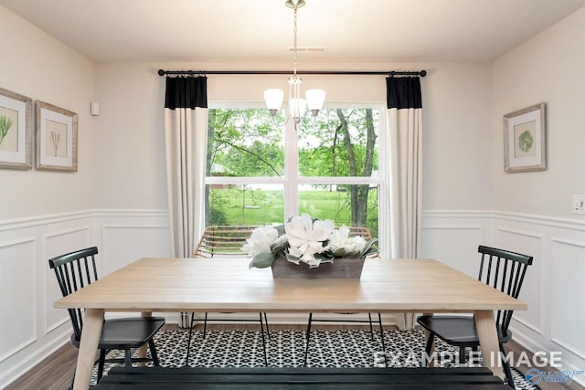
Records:
{"label": "black top band of the left window curtain", "polygon": [[207,77],[167,77],[165,109],[207,109]]}

